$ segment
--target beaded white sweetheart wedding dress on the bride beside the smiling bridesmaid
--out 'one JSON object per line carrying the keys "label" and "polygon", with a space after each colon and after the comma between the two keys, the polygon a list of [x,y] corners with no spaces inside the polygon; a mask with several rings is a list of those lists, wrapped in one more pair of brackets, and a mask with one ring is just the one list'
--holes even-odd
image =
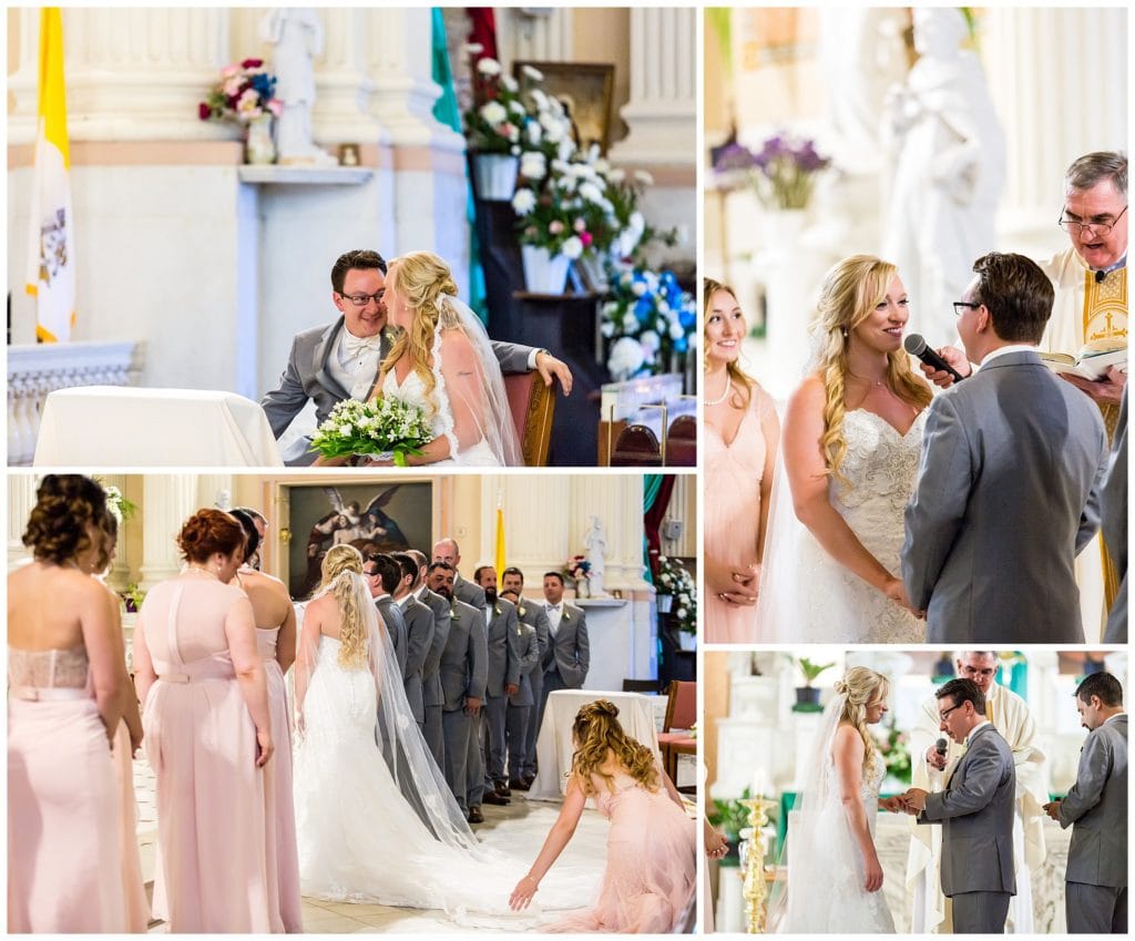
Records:
{"label": "beaded white sweetheart wedding dress on the bride beside the smiling bridesmaid", "polygon": [[[915,490],[924,409],[906,435],[864,409],[847,412],[848,450],[829,498],[851,531],[901,578],[903,511]],[[919,644],[926,624],[838,563],[796,518],[777,457],[758,596],[759,639],[806,644]]]}

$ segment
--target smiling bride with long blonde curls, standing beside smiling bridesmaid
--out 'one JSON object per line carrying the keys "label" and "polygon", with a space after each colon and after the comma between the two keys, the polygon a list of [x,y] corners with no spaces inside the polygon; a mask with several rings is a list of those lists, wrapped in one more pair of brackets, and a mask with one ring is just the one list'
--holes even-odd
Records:
{"label": "smiling bride with long blonde curls, standing beside smiling bridesmaid", "polygon": [[764,553],[762,640],[925,639],[899,574],[931,390],[902,350],[893,264],[852,255],[825,276],[818,351],[784,413]]}

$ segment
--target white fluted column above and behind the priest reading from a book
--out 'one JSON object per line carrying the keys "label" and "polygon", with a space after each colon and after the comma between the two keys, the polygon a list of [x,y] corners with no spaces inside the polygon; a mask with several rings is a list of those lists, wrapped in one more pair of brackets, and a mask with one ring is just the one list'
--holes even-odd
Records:
{"label": "white fluted column above and behind the priest reading from a book", "polygon": [[1060,247],[1068,165],[1127,146],[1127,10],[990,7],[980,24],[1007,145],[1001,235]]}

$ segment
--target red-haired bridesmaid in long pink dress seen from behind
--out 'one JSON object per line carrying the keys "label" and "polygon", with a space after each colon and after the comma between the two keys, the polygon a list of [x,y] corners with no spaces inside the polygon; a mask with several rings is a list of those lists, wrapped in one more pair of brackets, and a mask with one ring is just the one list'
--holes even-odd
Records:
{"label": "red-haired bridesmaid in long pink dress seen from behind", "polygon": [[252,605],[228,585],[244,560],[244,530],[228,513],[199,510],[177,541],[186,568],[150,590],[134,629],[157,783],[154,907],[175,933],[267,933],[271,720]]}

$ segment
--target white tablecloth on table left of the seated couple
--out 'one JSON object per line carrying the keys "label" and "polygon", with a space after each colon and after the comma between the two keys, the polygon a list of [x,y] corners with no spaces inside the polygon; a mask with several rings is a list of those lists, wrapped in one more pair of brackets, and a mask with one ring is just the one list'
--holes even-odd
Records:
{"label": "white tablecloth on table left of the seated couple", "polygon": [[79,386],[43,405],[39,467],[283,467],[268,419],[228,392]]}

